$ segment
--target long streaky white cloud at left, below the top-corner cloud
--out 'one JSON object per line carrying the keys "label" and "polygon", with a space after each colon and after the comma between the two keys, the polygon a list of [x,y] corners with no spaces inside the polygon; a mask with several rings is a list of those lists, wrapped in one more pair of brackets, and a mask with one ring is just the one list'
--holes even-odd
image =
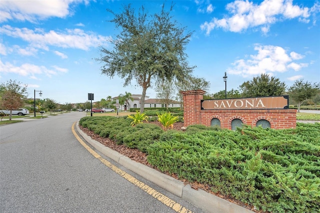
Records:
{"label": "long streaky white cloud at left, below the top-corner cloud", "polygon": [[0,26],[0,31],[8,36],[21,38],[33,47],[45,50],[48,50],[48,45],[88,50],[90,47],[97,47],[99,44],[107,45],[108,40],[110,40],[109,36],[97,35],[93,32],[86,33],[82,29],[45,32],[39,28],[32,30],[3,25]]}

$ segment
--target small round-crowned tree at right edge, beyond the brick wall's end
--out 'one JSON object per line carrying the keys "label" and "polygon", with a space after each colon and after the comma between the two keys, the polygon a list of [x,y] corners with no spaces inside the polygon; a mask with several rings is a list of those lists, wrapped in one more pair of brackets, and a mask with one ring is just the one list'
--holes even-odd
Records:
{"label": "small round-crowned tree at right edge, beyond the brick wall's end", "polygon": [[293,85],[289,87],[289,97],[297,102],[298,112],[300,111],[301,103],[308,99],[314,97],[320,89],[319,83],[311,83],[308,81],[303,81],[303,79],[294,81]]}

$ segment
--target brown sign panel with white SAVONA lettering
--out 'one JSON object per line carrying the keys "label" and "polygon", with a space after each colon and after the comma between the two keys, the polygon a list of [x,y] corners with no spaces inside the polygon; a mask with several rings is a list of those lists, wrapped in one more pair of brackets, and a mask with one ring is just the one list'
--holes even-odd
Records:
{"label": "brown sign panel with white SAVONA lettering", "polygon": [[288,95],[201,100],[201,109],[283,109],[289,108]]}

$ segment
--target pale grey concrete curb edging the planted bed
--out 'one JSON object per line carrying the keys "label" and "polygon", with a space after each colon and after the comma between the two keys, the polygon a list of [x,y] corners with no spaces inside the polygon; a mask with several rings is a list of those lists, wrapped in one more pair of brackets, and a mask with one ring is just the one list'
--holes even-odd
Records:
{"label": "pale grey concrete curb edging the planted bed", "polygon": [[105,156],[111,158],[112,160],[123,165],[124,167],[133,171],[139,176],[158,185],[159,187],[201,208],[202,210],[212,213],[253,212],[249,209],[236,205],[211,193],[207,193],[204,190],[195,190],[191,188],[189,184],[184,185],[183,182],[171,176],[168,176],[146,165],[131,160],[130,158],[118,153],[117,151],[110,149],[107,146],[102,145],[98,141],[86,135],[79,128],[78,122],[76,123],[76,130],[90,145],[96,148],[99,152],[103,153]]}

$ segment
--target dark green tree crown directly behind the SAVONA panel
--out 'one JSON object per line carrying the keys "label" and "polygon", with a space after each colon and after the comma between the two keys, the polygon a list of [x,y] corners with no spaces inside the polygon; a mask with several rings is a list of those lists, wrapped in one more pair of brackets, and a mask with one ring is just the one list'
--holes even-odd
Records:
{"label": "dark green tree crown directly behind the SAVONA panel", "polygon": [[245,97],[281,95],[285,90],[285,83],[281,82],[279,78],[261,73],[260,76],[243,82],[240,85],[240,90]]}

